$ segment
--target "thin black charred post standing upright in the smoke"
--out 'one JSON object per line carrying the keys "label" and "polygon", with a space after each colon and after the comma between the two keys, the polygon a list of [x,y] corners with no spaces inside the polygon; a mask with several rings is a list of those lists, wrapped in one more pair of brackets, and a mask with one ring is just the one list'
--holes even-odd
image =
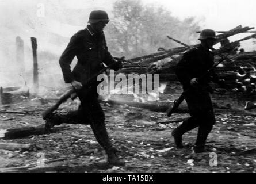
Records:
{"label": "thin black charred post standing upright in the smoke", "polygon": [[36,49],[37,49],[37,41],[35,37],[31,37],[31,43],[32,43],[32,50],[33,50],[33,83],[34,83],[34,90],[35,93],[38,92],[38,87],[39,87],[39,83],[38,83],[38,63],[37,63],[37,53],[36,53]]}

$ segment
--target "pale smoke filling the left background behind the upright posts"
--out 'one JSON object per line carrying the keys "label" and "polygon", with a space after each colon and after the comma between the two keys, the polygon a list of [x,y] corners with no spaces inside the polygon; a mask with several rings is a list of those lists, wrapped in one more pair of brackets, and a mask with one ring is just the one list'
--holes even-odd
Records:
{"label": "pale smoke filling the left background behind the upright posts", "polygon": [[[2,0],[0,1],[0,86],[25,86],[33,91],[33,56],[30,37],[37,39],[40,93],[63,87],[59,57],[70,37],[84,29],[92,10],[112,18],[113,3],[103,0]],[[106,32],[111,30],[106,29]],[[16,37],[24,41],[24,61],[17,57]],[[163,36],[163,39],[166,36]],[[108,37],[107,37],[108,39]],[[116,41],[108,40],[111,48]],[[114,43],[115,42],[115,43]],[[179,46],[179,45],[177,45]],[[75,60],[72,66],[75,65]]]}

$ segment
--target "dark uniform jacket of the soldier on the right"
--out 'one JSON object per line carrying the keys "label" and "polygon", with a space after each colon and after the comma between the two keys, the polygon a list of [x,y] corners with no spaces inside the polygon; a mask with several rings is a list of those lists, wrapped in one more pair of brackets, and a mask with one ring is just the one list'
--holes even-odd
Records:
{"label": "dark uniform jacket of the soldier on the right", "polygon": [[[207,70],[213,66],[213,62],[213,53],[209,50],[205,50],[200,45],[199,47],[190,49],[188,52],[184,53],[182,59],[175,68],[175,74],[184,86],[184,89],[187,89],[190,86],[190,80],[205,75]],[[208,82],[210,81],[216,83],[219,81],[219,78],[213,70],[205,76],[201,85],[208,87]]]}

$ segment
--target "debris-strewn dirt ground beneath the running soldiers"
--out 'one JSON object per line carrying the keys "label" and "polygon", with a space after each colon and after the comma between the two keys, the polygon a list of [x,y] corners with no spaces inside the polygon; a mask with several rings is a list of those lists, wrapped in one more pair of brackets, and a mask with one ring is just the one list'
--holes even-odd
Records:
{"label": "debris-strewn dirt ground beneath the running soldiers", "polygon": [[[0,129],[44,127],[41,112],[5,113],[6,111],[44,110],[38,100],[0,106]],[[61,112],[76,109],[66,102]],[[20,139],[1,139],[1,143],[29,144],[29,148],[0,150],[0,171],[22,172],[255,172],[255,115],[223,110],[216,113],[216,125],[209,134],[207,147],[212,152],[194,154],[197,129],[184,135],[185,148],[177,150],[171,131],[188,114],[151,112],[127,105],[102,104],[109,136],[121,151],[124,167],[106,164],[104,150],[95,140],[89,125],[62,124],[54,133],[30,135]],[[1,111],[2,110],[2,111]],[[178,120],[171,124],[158,124]],[[42,155],[44,157],[42,157]],[[214,156],[214,158],[213,158]],[[44,167],[38,166],[44,158]],[[212,161],[214,159],[214,162]],[[212,166],[210,163],[215,163]],[[16,169],[15,169],[15,168]],[[25,167],[25,168],[24,168]],[[9,170],[8,170],[9,168]],[[10,169],[12,168],[12,169]],[[14,170],[13,170],[14,168]]]}

